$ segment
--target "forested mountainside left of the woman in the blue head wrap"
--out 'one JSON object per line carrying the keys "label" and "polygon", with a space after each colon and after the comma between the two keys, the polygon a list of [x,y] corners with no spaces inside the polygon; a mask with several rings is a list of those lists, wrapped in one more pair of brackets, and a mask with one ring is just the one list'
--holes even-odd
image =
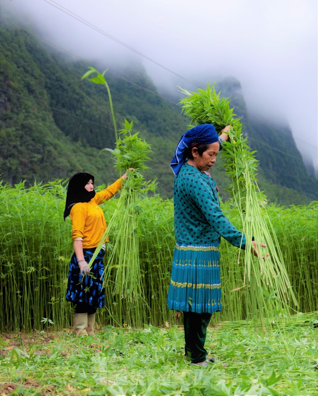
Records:
{"label": "forested mountainside left of the woman in the blue head wrap", "polygon": [[[33,183],[89,170],[97,182],[110,182],[116,177],[110,155],[95,158],[100,149],[113,148],[114,130],[106,89],[81,81],[90,65],[67,62],[23,30],[2,28],[0,38],[3,180]],[[157,178],[163,197],[171,196],[169,162],[186,120],[157,94],[143,70],[129,71],[125,79],[109,72],[106,78],[117,128],[124,118],[134,120],[134,131],[140,130],[153,150],[147,177]]]}

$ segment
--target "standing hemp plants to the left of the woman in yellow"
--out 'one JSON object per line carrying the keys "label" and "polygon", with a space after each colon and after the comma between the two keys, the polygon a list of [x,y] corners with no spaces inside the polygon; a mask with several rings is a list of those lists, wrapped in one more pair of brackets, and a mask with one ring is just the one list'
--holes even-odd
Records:
{"label": "standing hemp plants to the left of the woman in yellow", "polygon": [[[65,183],[61,180],[15,187],[0,186],[0,303],[2,326],[42,329],[42,319],[70,323],[65,301],[72,250],[63,221]],[[3,330],[3,328],[1,329]]]}

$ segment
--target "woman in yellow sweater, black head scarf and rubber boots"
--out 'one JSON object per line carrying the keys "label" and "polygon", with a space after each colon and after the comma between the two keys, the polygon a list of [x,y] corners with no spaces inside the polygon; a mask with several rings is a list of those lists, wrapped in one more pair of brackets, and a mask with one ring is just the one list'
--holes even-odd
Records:
{"label": "woman in yellow sweater, black head scarf and rubber boots", "polygon": [[[71,257],[66,299],[75,304],[76,335],[94,334],[96,310],[105,305],[105,245],[91,268],[88,263],[106,231],[104,212],[99,205],[112,198],[121,189],[122,180],[125,179],[127,173],[99,193],[94,191],[94,176],[89,173],[74,174],[68,185],[64,220],[71,216],[74,253]],[[108,237],[105,242],[108,242]]]}

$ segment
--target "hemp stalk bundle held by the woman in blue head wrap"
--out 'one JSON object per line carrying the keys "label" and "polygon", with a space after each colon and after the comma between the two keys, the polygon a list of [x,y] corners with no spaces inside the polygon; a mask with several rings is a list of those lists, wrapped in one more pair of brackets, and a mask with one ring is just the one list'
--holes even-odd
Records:
{"label": "hemp stalk bundle held by the woman in blue head wrap", "polygon": [[[243,285],[238,285],[233,292],[245,291],[247,319],[261,320],[276,315],[290,315],[290,301],[297,306],[287,271],[283,262],[274,228],[266,212],[266,197],[257,185],[257,165],[255,151],[247,145],[243,136],[240,118],[235,118],[234,108],[230,108],[230,98],[221,98],[216,93],[215,83],[206,90],[189,92],[180,89],[187,97],[181,99],[182,113],[191,118],[191,126],[212,124],[217,132],[230,125],[229,140],[222,144],[224,168],[229,176],[230,192],[233,203],[238,209],[247,239],[246,250],[240,250],[244,256]],[[258,247],[259,257],[251,252],[252,237],[259,244],[266,243],[266,249]],[[268,254],[268,257],[266,257]],[[233,265],[237,265],[233,263]]]}

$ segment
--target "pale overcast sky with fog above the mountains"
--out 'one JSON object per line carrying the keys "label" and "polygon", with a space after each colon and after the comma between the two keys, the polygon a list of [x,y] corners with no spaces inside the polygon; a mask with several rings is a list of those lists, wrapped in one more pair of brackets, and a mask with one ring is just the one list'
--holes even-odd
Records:
{"label": "pale overcast sky with fog above the mountains", "polygon": [[[79,57],[141,61],[157,85],[234,76],[318,166],[317,0],[0,0]],[[94,65],[89,65],[94,66]],[[180,77],[177,77],[180,76]],[[182,77],[182,78],[181,78]],[[183,85],[184,85],[183,84]],[[180,131],[182,132],[182,131]],[[279,136],[278,136],[279,141]]]}

